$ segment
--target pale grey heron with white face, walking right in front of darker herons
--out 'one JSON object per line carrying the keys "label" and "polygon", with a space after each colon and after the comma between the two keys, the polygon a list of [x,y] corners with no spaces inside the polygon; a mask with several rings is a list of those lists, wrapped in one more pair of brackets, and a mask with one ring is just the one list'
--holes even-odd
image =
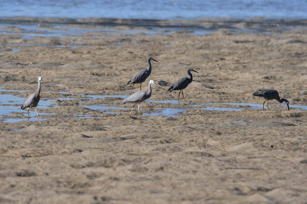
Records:
{"label": "pale grey heron with white face, walking right in front of darker herons", "polygon": [[[150,84],[152,84],[152,83],[157,84],[153,80],[150,80],[149,83],[148,83],[148,91],[146,91],[146,90],[138,91],[138,92],[132,94],[131,96],[125,98],[125,100],[123,100],[122,103],[123,104],[125,104],[125,103],[135,103],[134,106],[138,103],[138,114],[141,115],[140,114],[140,103],[145,101],[147,98],[150,98],[150,96],[151,96],[151,86],[150,86]],[[131,115],[134,106],[132,106],[132,110],[131,110],[129,115]]]}

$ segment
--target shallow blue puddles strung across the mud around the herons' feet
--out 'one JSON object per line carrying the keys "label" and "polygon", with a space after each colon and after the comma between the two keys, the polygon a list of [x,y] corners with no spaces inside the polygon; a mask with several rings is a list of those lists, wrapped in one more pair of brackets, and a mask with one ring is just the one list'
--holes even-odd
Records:
{"label": "shallow blue puddles strung across the mud around the herons' feet", "polygon": [[[17,91],[17,90],[6,90],[6,89],[1,89],[3,87],[0,87],[0,91],[7,91],[7,92],[23,92],[26,90],[22,91]],[[52,91],[48,91],[52,92]],[[44,92],[42,92],[44,93]],[[56,93],[60,94],[69,94],[69,98],[41,98],[37,109],[38,113],[40,115],[54,115],[54,114],[60,114],[60,113],[43,113],[40,112],[39,109],[47,109],[50,107],[60,107],[60,105],[57,105],[56,100],[58,99],[59,101],[63,100],[80,100],[83,99],[82,102],[78,101],[79,105],[78,106],[83,106],[88,109],[93,109],[97,111],[102,111],[103,113],[123,113],[123,112],[129,112],[131,109],[130,107],[123,108],[119,107],[118,104],[98,104],[98,105],[86,105],[86,102],[90,101],[95,101],[99,98],[106,98],[106,97],[118,97],[118,98],[127,98],[129,95],[78,95],[78,94],[72,94],[69,92],[65,91],[59,91]],[[80,97],[81,96],[81,97]],[[35,109],[31,108],[29,109],[30,117],[27,118],[28,113],[26,110],[21,110],[21,104],[25,101],[25,98],[19,98],[17,96],[14,96],[12,94],[0,94],[0,121],[2,122],[20,122],[20,121],[39,121],[39,120],[47,120],[44,118],[36,118],[36,113]],[[178,102],[177,100],[151,100],[147,99],[146,102],[153,102],[153,103],[163,103],[165,106],[167,106],[167,103],[169,104],[182,104],[186,102]],[[216,107],[217,104],[219,106],[221,104],[227,104],[227,105],[232,105],[232,106],[239,106],[239,107]],[[208,106],[207,106],[208,105]],[[205,107],[204,107],[205,106]],[[152,113],[143,113],[143,115],[148,115],[148,116],[159,116],[159,115],[164,115],[164,116],[169,116],[169,117],[175,117],[180,114],[182,114],[184,111],[188,109],[201,109],[201,110],[217,110],[217,111],[241,111],[242,106],[246,106],[247,108],[250,109],[262,109],[262,104],[253,104],[253,103],[201,103],[201,104],[191,104],[187,105],[187,108],[155,108]],[[285,104],[272,104],[271,106],[283,106],[286,108]],[[272,107],[273,108],[273,107]],[[290,109],[304,109],[307,110],[307,106],[301,106],[301,105],[290,105]],[[142,112],[142,110],[141,110]],[[17,113],[22,113],[22,116],[24,118],[14,118],[16,117]],[[63,118],[65,118],[65,114],[61,113],[64,115]],[[1,117],[5,116],[5,117]],[[12,116],[12,118],[10,118]],[[67,118],[91,118],[87,115],[79,115],[79,114],[67,114]]]}

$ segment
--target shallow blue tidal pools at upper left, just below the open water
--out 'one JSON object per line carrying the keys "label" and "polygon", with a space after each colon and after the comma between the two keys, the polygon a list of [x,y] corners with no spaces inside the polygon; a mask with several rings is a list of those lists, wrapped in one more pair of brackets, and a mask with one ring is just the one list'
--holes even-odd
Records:
{"label": "shallow blue tidal pools at upper left, just below the open water", "polygon": [[[90,27],[79,27],[80,23],[77,22],[76,20],[70,22],[70,23],[59,23],[59,22],[53,22],[50,20],[50,22],[46,22],[48,24],[49,28],[44,28],[41,27],[41,24],[39,23],[41,20],[38,19],[33,19],[31,21],[23,21],[22,19],[20,20],[11,20],[7,19],[4,21],[1,21],[0,17],[0,34],[2,35],[22,35],[20,39],[27,40],[27,39],[40,39],[40,38],[52,38],[52,37],[65,37],[68,35],[85,35],[87,33],[105,33],[108,35],[112,34],[127,34],[127,35],[132,35],[136,32],[142,32],[147,35],[161,35],[159,32],[163,30],[163,34],[168,34],[171,32],[175,31],[188,31],[191,32],[190,34],[193,35],[205,35],[208,34],[215,29],[212,28],[202,28],[199,26],[193,26],[193,25],[186,25],[186,26],[176,26],[176,25],[169,25],[169,26],[160,26],[158,21],[153,21],[152,24],[146,24],[142,25],[142,21],[138,22],[136,25],[135,23],[130,23],[129,21],[123,22],[123,23],[118,23],[118,22],[113,22],[113,23],[105,23],[105,22],[95,22],[95,29],[90,28]],[[91,25],[91,22],[84,22],[84,25]],[[74,27],[76,26],[76,27]],[[127,27],[132,27],[132,30],[129,29],[123,29],[119,30],[116,29],[118,26],[127,26]],[[12,31],[10,27],[17,27],[20,28],[21,31]],[[146,30],[144,29],[147,28]],[[56,28],[55,30],[53,30]],[[139,28],[139,29],[138,29]],[[165,31],[167,30],[167,31]],[[107,36],[91,36],[92,38],[107,38]],[[69,48],[77,48],[77,47],[84,47],[87,46],[84,43],[79,43],[79,42],[70,42],[74,45],[45,45],[45,44],[38,44],[36,46],[48,46],[48,47],[69,47]],[[33,46],[31,44],[5,44],[5,46]],[[122,46],[124,43],[114,43],[114,46]]]}

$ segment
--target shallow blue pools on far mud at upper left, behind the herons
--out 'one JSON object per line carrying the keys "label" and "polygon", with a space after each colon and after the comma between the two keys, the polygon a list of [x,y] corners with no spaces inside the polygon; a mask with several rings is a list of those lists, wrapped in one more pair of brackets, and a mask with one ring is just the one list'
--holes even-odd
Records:
{"label": "shallow blue pools on far mud at upper left, behind the herons", "polygon": [[[13,20],[14,21],[14,20]],[[18,21],[18,20],[17,20]],[[95,28],[93,28],[92,26],[89,26],[87,28],[85,27],[79,27],[79,26],[75,26],[75,23],[79,24],[79,22],[74,22],[72,24],[70,23],[64,23],[64,24],[57,24],[57,23],[49,23],[48,26],[44,26],[41,24],[36,24],[36,23],[21,23],[21,24],[16,24],[16,23],[9,23],[9,22],[0,22],[0,27],[2,27],[0,29],[0,34],[2,35],[17,35],[17,36],[21,36],[20,39],[40,39],[40,38],[53,38],[53,37],[66,37],[66,36],[87,36],[87,37],[91,37],[91,38],[108,38],[108,35],[113,35],[113,34],[119,34],[119,35],[133,35],[135,33],[139,33],[142,32],[146,35],[161,35],[161,34],[166,34],[166,33],[172,33],[178,30],[182,30],[181,26],[171,26],[171,29],[169,30],[169,32],[164,32],[165,31],[165,27],[159,27],[157,25],[155,26],[150,26],[150,24],[148,24],[146,27],[148,27],[148,29],[138,29],[135,26],[132,26],[134,29],[117,29],[119,24],[118,23],[98,23],[100,25],[98,25],[96,23]],[[16,30],[11,30],[10,27],[17,27],[20,30],[16,31]],[[143,26],[142,26],[143,27]],[[141,27],[141,28],[142,28]],[[191,34],[207,34],[209,33],[206,29],[195,29],[193,27],[189,28],[189,27],[185,27],[184,28],[191,30]],[[163,31],[161,34],[159,33],[160,31]],[[197,33],[194,33],[197,32]],[[95,33],[101,33],[101,34],[105,34],[105,35],[92,35]],[[88,35],[90,34],[90,35]],[[73,45],[72,46],[65,46],[65,45],[54,45],[55,47],[70,47],[70,48],[76,48],[79,46],[84,46],[84,43],[80,43],[80,42],[70,42]],[[114,43],[115,46],[122,46],[125,45],[126,43]],[[6,44],[7,46],[13,46],[14,44]],[[18,46],[21,46],[22,44],[16,44]],[[23,44],[24,46],[26,46],[26,44]],[[135,44],[138,45],[138,44]],[[44,44],[40,45],[37,44],[36,46],[46,46]]]}

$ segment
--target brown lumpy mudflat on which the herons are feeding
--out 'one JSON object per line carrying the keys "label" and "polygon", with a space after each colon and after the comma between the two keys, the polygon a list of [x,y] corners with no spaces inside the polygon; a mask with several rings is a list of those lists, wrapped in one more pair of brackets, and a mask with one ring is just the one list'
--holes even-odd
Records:
{"label": "brown lumpy mudflat on which the herons are feeding", "polygon": [[[307,203],[307,110],[291,107],[307,101],[305,30],[23,39],[11,29],[17,34],[0,35],[0,86],[27,91],[0,94],[25,98],[41,76],[41,102],[54,104],[38,106],[38,120],[31,109],[29,121],[3,122],[25,118],[22,103],[0,118],[0,203]],[[143,102],[143,115],[129,116],[123,97],[84,97],[130,95],[126,83],[148,57],[158,62],[146,89],[199,72],[181,103]],[[152,85],[150,99],[177,100],[168,88]],[[262,111],[252,96],[261,88],[278,90],[290,111],[277,101]],[[120,109],[84,107],[100,104]],[[184,110],[148,114],[157,108]]]}

